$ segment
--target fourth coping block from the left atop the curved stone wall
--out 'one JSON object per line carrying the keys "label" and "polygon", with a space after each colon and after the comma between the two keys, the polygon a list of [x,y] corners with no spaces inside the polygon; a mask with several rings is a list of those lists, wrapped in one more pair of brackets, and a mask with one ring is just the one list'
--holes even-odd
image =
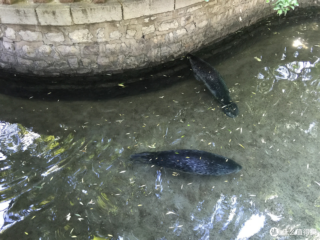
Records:
{"label": "fourth coping block from the left atop the curved stone wall", "polygon": [[174,0],[125,0],[122,1],[123,19],[139,18],[174,10]]}

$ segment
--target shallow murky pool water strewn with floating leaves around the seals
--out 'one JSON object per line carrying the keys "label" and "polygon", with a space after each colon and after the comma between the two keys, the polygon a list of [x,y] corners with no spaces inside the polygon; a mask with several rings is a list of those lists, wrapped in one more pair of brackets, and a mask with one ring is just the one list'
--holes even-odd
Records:
{"label": "shallow murky pool water strewn with floating leaves around the seals", "polygon": [[[0,94],[1,239],[319,239],[312,16],[260,24],[251,46],[196,53],[224,77],[235,119],[184,58],[179,71],[165,67],[147,81],[117,75],[106,93],[86,83],[74,92],[2,90],[10,94]],[[198,176],[128,160],[170,149],[227,156],[243,170]]]}

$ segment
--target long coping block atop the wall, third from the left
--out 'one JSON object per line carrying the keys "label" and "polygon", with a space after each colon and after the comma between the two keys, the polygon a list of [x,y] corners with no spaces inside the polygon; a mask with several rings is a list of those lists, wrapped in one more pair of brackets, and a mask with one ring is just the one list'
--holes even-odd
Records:
{"label": "long coping block atop the wall, third from the left", "polygon": [[77,2],[72,4],[71,13],[75,24],[122,20],[121,4],[116,0],[99,6]]}

